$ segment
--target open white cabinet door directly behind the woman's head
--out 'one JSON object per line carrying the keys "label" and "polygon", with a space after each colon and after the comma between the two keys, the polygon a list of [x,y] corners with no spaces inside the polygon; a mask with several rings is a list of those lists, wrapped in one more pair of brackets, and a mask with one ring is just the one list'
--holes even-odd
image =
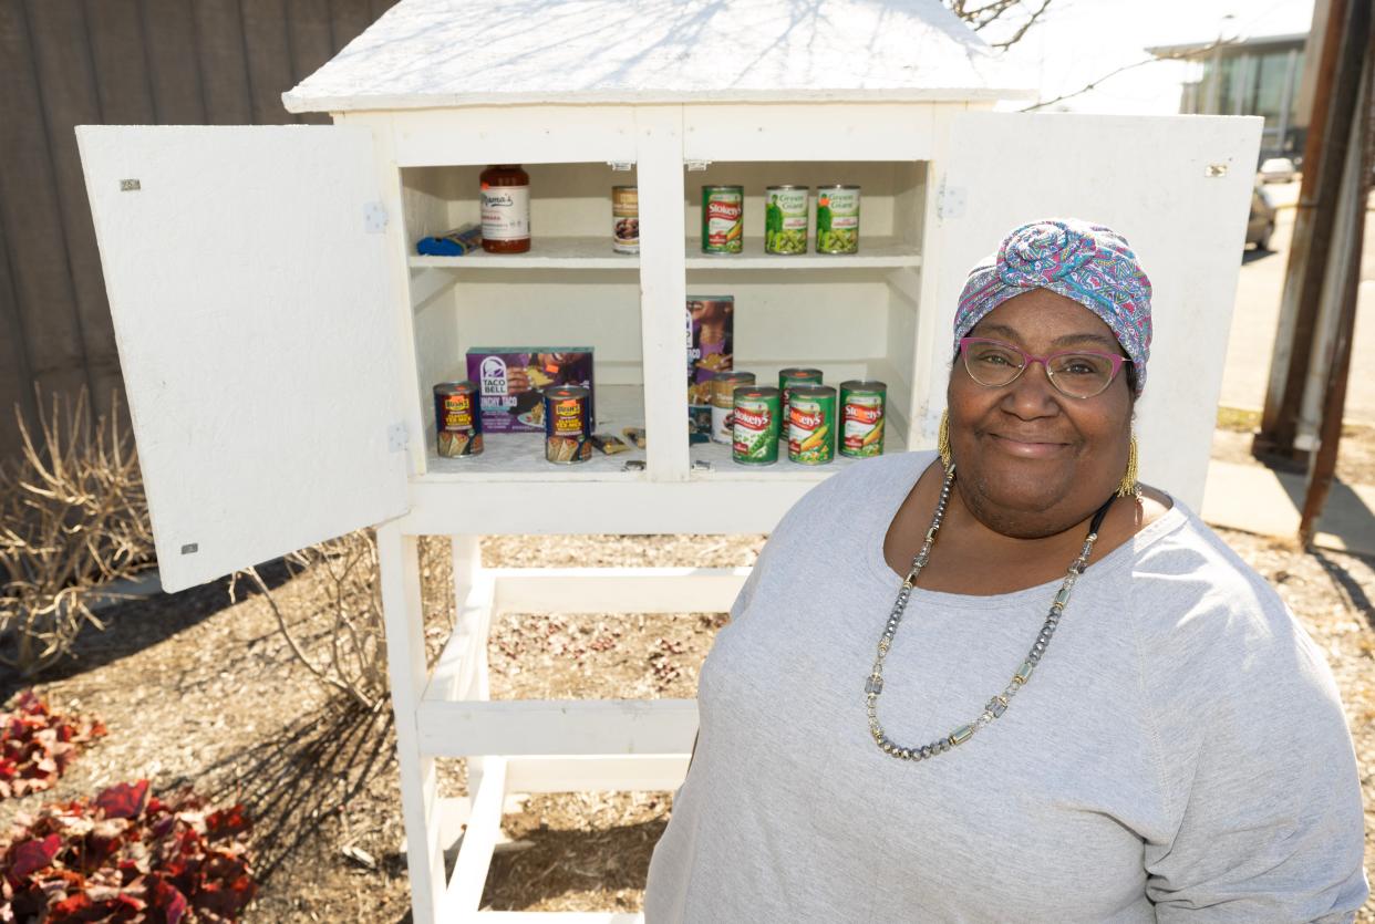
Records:
{"label": "open white cabinet door directly behind the woman's head", "polygon": [[[1122,234],[1154,286],[1141,477],[1198,510],[1261,142],[1260,118],[961,113],[935,177],[938,305],[950,337],[969,268],[1027,221],[1072,216]],[[953,352],[952,345],[952,352]],[[1265,362],[1257,356],[1255,362]],[[947,366],[928,393],[945,395]],[[939,414],[945,402],[934,402]],[[934,430],[932,430],[934,432]]]}

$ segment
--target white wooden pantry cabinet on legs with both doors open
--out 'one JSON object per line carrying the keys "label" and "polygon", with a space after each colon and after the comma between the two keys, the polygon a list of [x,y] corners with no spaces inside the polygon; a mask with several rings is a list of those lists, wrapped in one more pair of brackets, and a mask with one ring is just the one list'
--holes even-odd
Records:
{"label": "white wooden pantry cabinet on legs with both doors open", "polygon": [[[848,463],[689,447],[689,292],[736,297],[737,368],[884,380],[887,451],[927,448],[968,268],[1028,220],[1108,224],[1155,283],[1144,477],[1202,500],[1260,120],[993,113],[1022,88],[936,0],[829,0],[803,23],[786,8],[549,3],[494,34],[496,6],[404,0],[286,95],[334,126],[77,129],[164,586],[380,527],[419,921],[476,913],[507,792],[676,785],[696,729],[690,701],[487,701],[494,612],[725,609],[744,579],[494,573],[474,536],[766,532]],[[414,256],[476,220],[496,162],[531,175],[531,252]],[[627,183],[639,256],[610,248]],[[704,183],[745,187],[742,256],[700,253]],[[861,184],[859,253],[763,254],[773,183]],[[593,345],[600,429],[644,425],[648,451],[553,466],[540,436],[490,434],[440,459],[430,389],[469,346],[505,344]],[[459,628],[433,674],[419,535],[455,536]],[[437,756],[472,759],[451,877]]]}

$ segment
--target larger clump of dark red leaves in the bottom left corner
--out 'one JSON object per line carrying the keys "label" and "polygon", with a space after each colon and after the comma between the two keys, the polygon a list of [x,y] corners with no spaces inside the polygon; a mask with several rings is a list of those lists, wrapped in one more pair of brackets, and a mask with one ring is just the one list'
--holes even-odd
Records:
{"label": "larger clump of dark red leaves in the bottom left corner", "polygon": [[214,924],[257,894],[243,806],[147,780],[21,815],[0,839],[0,923]]}

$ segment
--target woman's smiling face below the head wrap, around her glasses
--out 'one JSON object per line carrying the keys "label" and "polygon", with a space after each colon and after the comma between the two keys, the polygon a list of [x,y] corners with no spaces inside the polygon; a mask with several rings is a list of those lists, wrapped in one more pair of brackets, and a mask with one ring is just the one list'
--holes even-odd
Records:
{"label": "woman's smiling face below the head wrap, around her glasses", "polygon": [[[994,308],[969,333],[1034,356],[1067,349],[1121,355],[1112,330],[1084,305],[1033,289]],[[1086,518],[1126,470],[1132,395],[1126,371],[1101,395],[1074,399],[1031,363],[1011,385],[989,388],[956,359],[947,393],[956,485],[986,527],[1023,539]]]}

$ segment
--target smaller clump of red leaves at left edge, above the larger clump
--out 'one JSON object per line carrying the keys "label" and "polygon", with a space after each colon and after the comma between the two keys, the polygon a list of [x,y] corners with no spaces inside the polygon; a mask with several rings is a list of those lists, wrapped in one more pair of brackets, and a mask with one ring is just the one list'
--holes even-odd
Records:
{"label": "smaller clump of red leaves at left edge, above the larger clump", "polygon": [[103,734],[99,720],[54,712],[22,692],[12,712],[0,712],[0,799],[51,789],[81,745]]}

